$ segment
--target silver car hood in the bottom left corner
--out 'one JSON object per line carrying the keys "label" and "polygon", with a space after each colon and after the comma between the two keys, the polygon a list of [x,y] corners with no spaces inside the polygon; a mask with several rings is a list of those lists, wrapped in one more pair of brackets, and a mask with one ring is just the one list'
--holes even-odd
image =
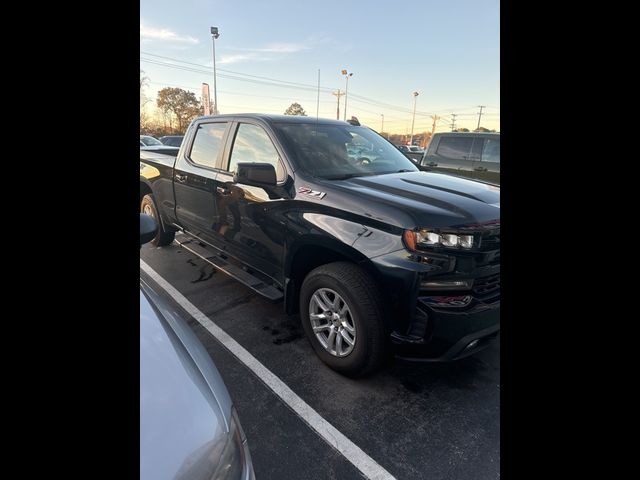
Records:
{"label": "silver car hood in the bottom left corner", "polygon": [[231,399],[189,327],[141,287],[140,478],[208,478],[227,442]]}

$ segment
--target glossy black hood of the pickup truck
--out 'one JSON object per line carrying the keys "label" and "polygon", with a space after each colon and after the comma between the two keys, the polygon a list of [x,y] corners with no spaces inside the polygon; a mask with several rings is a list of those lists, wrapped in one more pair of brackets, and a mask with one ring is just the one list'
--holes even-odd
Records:
{"label": "glossy black hood of the pickup truck", "polygon": [[402,228],[461,227],[500,219],[500,187],[446,174],[405,172],[323,184],[330,186],[327,203]]}

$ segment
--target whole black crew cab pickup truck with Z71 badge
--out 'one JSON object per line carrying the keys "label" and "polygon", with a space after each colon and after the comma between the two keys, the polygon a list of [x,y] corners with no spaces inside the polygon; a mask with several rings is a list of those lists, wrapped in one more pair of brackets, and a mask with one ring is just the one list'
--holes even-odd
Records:
{"label": "whole black crew cab pickup truck with Z71 badge", "polygon": [[140,152],[140,202],[156,245],[283,301],[343,374],[389,353],[455,360],[498,335],[499,187],[421,172],[357,121],[197,118],[177,157]]}

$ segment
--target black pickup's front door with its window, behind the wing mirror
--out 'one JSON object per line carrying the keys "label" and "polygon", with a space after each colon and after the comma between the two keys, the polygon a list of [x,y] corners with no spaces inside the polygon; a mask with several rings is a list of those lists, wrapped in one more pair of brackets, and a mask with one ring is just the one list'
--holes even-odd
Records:
{"label": "black pickup's front door with its window, behind the wing mirror", "polygon": [[216,177],[218,223],[214,229],[225,250],[250,267],[281,280],[286,223],[283,199],[265,189],[233,182],[240,162],[270,163],[280,184],[287,179],[283,151],[258,123],[242,121],[230,133],[229,161]]}

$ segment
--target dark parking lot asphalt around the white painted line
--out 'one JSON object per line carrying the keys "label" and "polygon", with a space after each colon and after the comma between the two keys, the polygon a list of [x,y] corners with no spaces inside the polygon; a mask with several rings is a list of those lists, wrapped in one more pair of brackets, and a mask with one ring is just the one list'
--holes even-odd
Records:
{"label": "dark parking lot asphalt around the white painted line", "polygon": [[[499,337],[454,363],[391,359],[376,374],[353,380],[318,359],[298,316],[179,245],[145,245],[140,258],[396,478],[500,477]],[[258,479],[363,477],[198,321],[184,318],[229,389]]]}

